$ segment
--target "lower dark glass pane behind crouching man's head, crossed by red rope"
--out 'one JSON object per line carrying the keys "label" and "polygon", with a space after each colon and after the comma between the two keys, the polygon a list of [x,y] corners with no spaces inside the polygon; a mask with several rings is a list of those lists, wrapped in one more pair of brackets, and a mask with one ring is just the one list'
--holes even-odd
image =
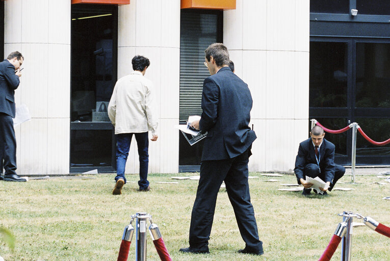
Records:
{"label": "lower dark glass pane behind crouching man's head, crossed by red rope", "polygon": [[[341,129],[348,126],[348,120],[345,118],[318,118],[316,119],[324,127],[329,129]],[[309,129],[311,121],[309,122]],[[341,134],[325,133],[325,139],[335,146],[335,155],[347,155],[347,134],[349,131]],[[349,148],[350,149],[350,148]]]}

